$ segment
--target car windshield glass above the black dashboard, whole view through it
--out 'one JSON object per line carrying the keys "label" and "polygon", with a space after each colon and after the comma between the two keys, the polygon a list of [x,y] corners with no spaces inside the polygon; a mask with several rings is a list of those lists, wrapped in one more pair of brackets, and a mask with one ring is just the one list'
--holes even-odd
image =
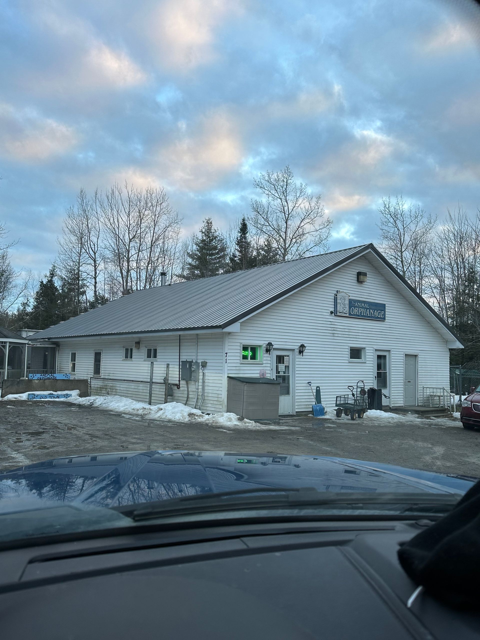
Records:
{"label": "car windshield glass above the black dashboard, whole view through it", "polygon": [[106,6],[0,8],[0,531],[451,509],[476,4]]}

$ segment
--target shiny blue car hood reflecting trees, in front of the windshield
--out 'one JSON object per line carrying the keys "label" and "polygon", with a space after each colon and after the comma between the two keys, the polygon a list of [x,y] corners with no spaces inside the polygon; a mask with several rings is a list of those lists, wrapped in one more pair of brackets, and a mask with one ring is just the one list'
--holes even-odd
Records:
{"label": "shiny blue car hood reflecting trees, in front of the windshield", "polygon": [[380,463],[285,454],[141,451],[56,458],[0,474],[0,513],[110,507],[255,487],[326,492],[465,493],[476,478]]}

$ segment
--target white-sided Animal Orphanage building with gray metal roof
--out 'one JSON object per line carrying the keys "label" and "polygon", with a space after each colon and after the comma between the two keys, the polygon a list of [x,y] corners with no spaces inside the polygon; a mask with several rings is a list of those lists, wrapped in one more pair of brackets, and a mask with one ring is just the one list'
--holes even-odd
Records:
{"label": "white-sided Animal Orphanage building with gray metal roof", "polygon": [[284,415],[311,411],[308,381],[327,408],[357,380],[381,388],[384,406],[422,404],[449,388],[449,349],[463,346],[372,244],[136,291],[35,338],[92,394],[147,401],[153,362],[161,403],[169,364],[170,401],[188,393],[221,412],[228,376],[266,374],[280,380]]}

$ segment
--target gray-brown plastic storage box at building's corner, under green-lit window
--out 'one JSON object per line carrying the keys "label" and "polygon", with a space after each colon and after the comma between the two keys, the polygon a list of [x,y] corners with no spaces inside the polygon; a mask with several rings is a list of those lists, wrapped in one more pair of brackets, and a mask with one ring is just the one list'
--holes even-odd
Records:
{"label": "gray-brown plastic storage box at building's corner, under green-lit window", "polygon": [[275,420],[279,399],[280,382],[276,380],[228,376],[228,412],[248,420]]}

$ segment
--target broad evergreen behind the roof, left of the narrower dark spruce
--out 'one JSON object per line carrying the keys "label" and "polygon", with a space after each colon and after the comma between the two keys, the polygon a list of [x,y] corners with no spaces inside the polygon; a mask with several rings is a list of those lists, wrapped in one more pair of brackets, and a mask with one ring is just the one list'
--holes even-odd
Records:
{"label": "broad evergreen behind the roof, left of the narrower dark spruce", "polygon": [[187,256],[187,280],[214,276],[225,269],[227,243],[220,231],[214,228],[211,218],[205,218],[200,236],[193,236],[193,247]]}

